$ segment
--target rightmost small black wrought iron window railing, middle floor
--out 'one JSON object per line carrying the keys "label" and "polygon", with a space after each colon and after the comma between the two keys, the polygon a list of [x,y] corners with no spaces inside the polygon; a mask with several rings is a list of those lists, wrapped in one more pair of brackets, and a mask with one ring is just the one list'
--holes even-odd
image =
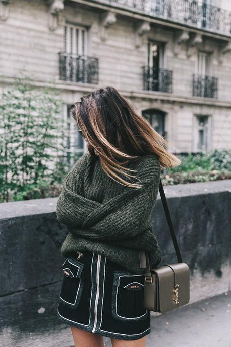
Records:
{"label": "rightmost small black wrought iron window railing, middle floor", "polygon": [[206,75],[193,75],[193,96],[217,98],[218,78]]}

